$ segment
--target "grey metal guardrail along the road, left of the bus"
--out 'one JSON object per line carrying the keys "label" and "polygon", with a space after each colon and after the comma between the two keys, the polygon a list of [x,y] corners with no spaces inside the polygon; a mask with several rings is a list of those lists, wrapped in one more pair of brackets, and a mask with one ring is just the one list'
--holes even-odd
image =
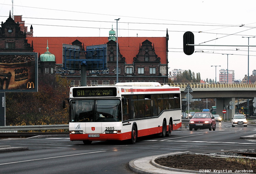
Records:
{"label": "grey metal guardrail along the road, left of the bus", "polygon": [[56,124],[56,125],[0,126],[0,131],[31,131],[31,130],[56,130],[56,129],[69,129],[69,125]]}

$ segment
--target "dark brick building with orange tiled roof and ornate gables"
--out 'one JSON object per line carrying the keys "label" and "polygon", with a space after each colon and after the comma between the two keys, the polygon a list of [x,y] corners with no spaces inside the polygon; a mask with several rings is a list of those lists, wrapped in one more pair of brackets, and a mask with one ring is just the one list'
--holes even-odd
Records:
{"label": "dark brick building with orange tiled roof and ornate gables", "polygon": [[[11,20],[9,18],[8,20]],[[118,73],[118,82],[168,82],[169,35],[167,31],[166,37],[118,37],[117,70],[116,41],[113,28],[109,32],[109,37],[33,37],[33,27],[30,27],[30,32],[27,34],[27,27],[25,21],[22,21],[22,16],[14,16],[14,18],[13,26],[19,25],[19,33],[23,32],[26,38],[12,38],[14,48],[1,46],[0,52],[31,52],[27,51],[25,47],[24,51],[15,49],[16,42],[21,40],[27,41],[27,45],[33,49],[33,52],[38,53],[38,57],[46,52],[55,55],[54,61],[38,58],[38,75],[40,73],[49,75],[61,73],[62,76],[67,77],[70,85],[80,85],[80,71],[69,70],[65,72],[62,70],[62,44],[76,45],[80,47],[80,50],[85,50],[86,46],[107,44],[108,69],[87,71],[87,85],[115,84],[116,73]],[[7,32],[7,30],[2,32]],[[0,41],[2,45],[10,41],[8,35],[4,36],[0,36],[2,37]]]}

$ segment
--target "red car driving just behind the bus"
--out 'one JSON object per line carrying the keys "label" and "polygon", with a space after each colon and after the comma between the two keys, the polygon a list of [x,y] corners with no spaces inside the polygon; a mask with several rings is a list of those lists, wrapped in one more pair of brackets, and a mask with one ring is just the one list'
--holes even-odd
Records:
{"label": "red car driving just behind the bus", "polygon": [[195,131],[197,131],[197,129],[209,129],[209,131],[215,131],[216,129],[215,119],[212,113],[209,112],[194,113],[188,125],[190,131],[192,131],[193,128]]}

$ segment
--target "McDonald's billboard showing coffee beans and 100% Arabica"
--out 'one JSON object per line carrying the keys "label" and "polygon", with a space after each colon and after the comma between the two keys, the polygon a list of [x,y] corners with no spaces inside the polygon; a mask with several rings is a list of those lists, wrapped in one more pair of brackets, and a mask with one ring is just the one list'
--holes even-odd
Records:
{"label": "McDonald's billboard showing coffee beans and 100% Arabica", "polygon": [[0,92],[37,92],[37,53],[0,52]]}

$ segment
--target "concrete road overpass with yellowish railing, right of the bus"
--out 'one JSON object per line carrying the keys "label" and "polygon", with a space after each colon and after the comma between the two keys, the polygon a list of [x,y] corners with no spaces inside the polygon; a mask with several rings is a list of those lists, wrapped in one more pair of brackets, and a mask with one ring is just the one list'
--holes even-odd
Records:
{"label": "concrete road overpass with yellowish railing, right of the bus", "polygon": [[[232,101],[234,106],[235,99],[253,99],[256,97],[256,84],[255,83],[165,83],[169,86],[180,87],[181,97],[187,94],[185,91],[187,85],[191,87],[193,93],[190,93],[193,98],[216,98],[217,113],[222,115],[222,110],[225,106],[230,106],[229,102]],[[163,84],[162,84],[163,85]],[[250,100],[252,106],[252,100]],[[251,111],[250,111],[251,112]],[[225,114],[225,119],[231,119],[235,114],[235,109],[228,110]],[[223,116],[223,115],[222,115]],[[228,117],[227,117],[228,116]]]}

